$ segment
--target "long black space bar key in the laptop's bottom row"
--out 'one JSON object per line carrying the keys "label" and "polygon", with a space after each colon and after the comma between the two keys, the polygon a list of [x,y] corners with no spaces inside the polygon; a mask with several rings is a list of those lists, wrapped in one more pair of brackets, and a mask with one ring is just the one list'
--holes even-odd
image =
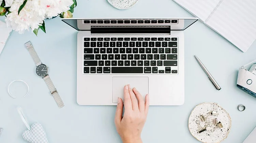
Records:
{"label": "long black space bar key in the laptop's bottom row", "polygon": [[112,74],[140,74],[143,73],[143,67],[111,67]]}

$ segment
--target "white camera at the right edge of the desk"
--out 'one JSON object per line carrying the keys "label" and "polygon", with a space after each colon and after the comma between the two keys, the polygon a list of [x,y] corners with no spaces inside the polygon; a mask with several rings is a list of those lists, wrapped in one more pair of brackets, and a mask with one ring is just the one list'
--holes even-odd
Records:
{"label": "white camera at the right edge of the desk", "polygon": [[243,66],[239,68],[237,87],[256,97],[256,63],[252,65],[249,71]]}

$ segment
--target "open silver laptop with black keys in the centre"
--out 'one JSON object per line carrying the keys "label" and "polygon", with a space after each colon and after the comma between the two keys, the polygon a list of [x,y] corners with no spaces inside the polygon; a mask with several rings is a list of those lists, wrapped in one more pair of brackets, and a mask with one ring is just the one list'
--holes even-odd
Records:
{"label": "open silver laptop with black keys in the centre", "polygon": [[62,20],[79,31],[79,105],[117,105],[126,84],[150,105],[184,104],[183,30],[198,19]]}

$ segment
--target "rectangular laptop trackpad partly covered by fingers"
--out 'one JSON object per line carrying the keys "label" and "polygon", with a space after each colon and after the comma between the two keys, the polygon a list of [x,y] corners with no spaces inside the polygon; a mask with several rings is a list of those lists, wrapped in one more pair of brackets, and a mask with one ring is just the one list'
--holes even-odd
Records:
{"label": "rectangular laptop trackpad partly covered by fingers", "polygon": [[130,84],[131,88],[136,88],[145,100],[148,94],[148,77],[113,77],[112,78],[112,102],[117,103],[117,98],[123,99],[123,88]]}

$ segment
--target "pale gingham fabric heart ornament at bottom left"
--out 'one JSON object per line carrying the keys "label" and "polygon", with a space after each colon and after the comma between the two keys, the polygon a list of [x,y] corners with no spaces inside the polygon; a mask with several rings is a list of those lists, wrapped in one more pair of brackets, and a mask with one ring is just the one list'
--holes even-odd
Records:
{"label": "pale gingham fabric heart ornament at bottom left", "polygon": [[39,123],[34,123],[31,130],[24,131],[22,137],[30,143],[48,143],[44,128]]}

